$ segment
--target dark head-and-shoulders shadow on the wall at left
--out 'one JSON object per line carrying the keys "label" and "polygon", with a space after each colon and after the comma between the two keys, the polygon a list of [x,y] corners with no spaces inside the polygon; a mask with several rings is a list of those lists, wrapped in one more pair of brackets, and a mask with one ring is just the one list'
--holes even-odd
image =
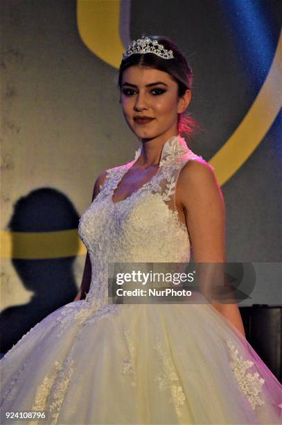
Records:
{"label": "dark head-and-shoulders shadow on the wall at left", "polygon": [[[78,213],[69,199],[52,188],[33,190],[14,206],[11,232],[49,232],[78,228]],[[15,249],[15,241],[12,251]],[[77,294],[73,275],[76,256],[26,260],[12,258],[21,282],[33,297],[26,304],[8,307],[0,315],[1,353],[6,353],[44,317],[73,301]]]}

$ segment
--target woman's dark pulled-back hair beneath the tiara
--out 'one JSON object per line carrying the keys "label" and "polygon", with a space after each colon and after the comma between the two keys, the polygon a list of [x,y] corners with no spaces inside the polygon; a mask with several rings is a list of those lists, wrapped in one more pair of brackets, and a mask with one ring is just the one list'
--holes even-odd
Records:
{"label": "woman's dark pulled-back hair beneath the tiara", "polygon": [[[165,49],[172,50],[174,57],[169,60],[163,59],[155,55],[155,53],[134,53],[128,56],[121,61],[121,65],[118,69],[118,87],[121,89],[121,81],[125,69],[139,65],[159,69],[160,71],[170,74],[178,85],[177,96],[182,97],[187,89],[191,90],[193,84],[192,70],[184,54],[168,37],[162,35],[143,35],[152,40],[157,40]],[[194,130],[200,129],[200,126],[195,122],[195,119],[191,117],[191,113],[184,111],[184,113],[179,114],[177,128],[179,133],[190,135]]]}

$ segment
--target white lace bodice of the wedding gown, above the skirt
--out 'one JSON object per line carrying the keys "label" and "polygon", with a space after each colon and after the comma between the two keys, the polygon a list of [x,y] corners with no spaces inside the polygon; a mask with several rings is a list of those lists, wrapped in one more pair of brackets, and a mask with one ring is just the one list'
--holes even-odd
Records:
{"label": "white lace bodice of the wedding gown, above the skirt", "polygon": [[[80,218],[78,232],[91,260],[92,276],[87,298],[103,303],[106,296],[107,263],[188,263],[191,244],[186,224],[175,207],[175,187],[188,160],[202,158],[173,136],[161,151],[157,174],[122,201],[112,201],[121,178],[141,155],[130,163],[106,170],[98,196]],[[105,301],[105,300],[104,300]]]}

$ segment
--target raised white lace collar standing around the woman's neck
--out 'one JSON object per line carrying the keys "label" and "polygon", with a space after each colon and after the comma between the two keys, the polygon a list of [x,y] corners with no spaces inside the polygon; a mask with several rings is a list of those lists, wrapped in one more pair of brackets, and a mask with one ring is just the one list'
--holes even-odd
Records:
{"label": "raised white lace collar standing around the woman's neck", "polygon": [[[134,162],[138,160],[139,156],[141,156],[142,147],[135,152]],[[190,152],[186,141],[180,135],[173,136],[166,140],[164,146],[161,149],[161,159],[159,161],[159,166],[165,165],[171,160],[175,160],[185,153]]]}

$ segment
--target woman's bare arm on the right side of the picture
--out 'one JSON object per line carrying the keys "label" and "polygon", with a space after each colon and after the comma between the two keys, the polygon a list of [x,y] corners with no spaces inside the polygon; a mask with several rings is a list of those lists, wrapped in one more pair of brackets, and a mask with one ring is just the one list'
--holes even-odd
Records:
{"label": "woman's bare arm on the right side of the picture", "polygon": [[[226,263],[225,207],[208,163],[189,160],[179,174],[177,200],[184,210],[195,263]],[[245,337],[237,303],[211,303]]]}

